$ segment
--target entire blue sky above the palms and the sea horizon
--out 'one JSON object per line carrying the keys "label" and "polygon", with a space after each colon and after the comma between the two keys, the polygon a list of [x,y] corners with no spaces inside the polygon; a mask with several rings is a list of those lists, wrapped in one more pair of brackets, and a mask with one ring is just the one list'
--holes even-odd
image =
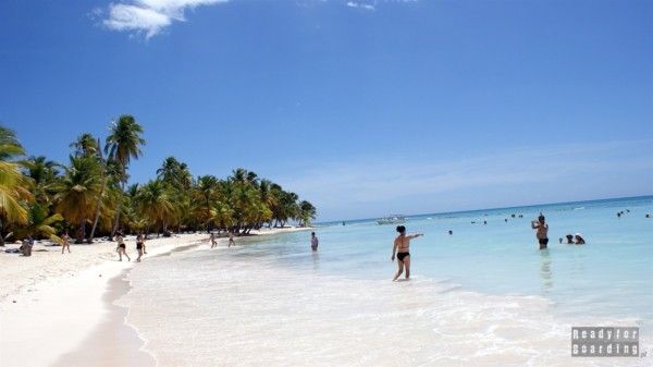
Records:
{"label": "entire blue sky above the palms and the sea horizon", "polygon": [[653,2],[0,2],[0,122],[147,181],[245,167],[320,219],[653,194]]}

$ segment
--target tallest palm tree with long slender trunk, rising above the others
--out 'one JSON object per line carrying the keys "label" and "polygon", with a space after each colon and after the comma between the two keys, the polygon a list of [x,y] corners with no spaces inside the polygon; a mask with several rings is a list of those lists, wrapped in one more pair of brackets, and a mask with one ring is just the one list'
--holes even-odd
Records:
{"label": "tallest palm tree with long slender trunk, rising above the others", "polygon": [[[107,137],[107,145],[104,152],[108,155],[107,159],[113,160],[120,164],[121,169],[121,191],[124,191],[126,183],[126,171],[127,166],[132,158],[138,159],[140,157],[140,146],[145,145],[145,139],[140,137],[143,134],[143,126],[140,126],[134,117],[130,114],[121,115],[111,125],[111,134]],[[122,194],[121,194],[122,195]],[[120,225],[120,212],[122,210],[122,196],[118,201],[118,210],[115,211],[115,222],[111,236],[118,231]]]}

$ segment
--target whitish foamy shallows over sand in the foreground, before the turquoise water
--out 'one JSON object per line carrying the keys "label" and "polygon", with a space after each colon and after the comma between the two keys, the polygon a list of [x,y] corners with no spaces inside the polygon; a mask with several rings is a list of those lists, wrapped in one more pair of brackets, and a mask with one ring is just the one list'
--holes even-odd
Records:
{"label": "whitish foamy shallows over sand in the foreground, before the turquoise water", "polygon": [[572,323],[632,320],[564,320],[540,296],[353,280],[245,254],[199,248],[131,272],[120,304],[159,367],[651,365],[569,356]]}

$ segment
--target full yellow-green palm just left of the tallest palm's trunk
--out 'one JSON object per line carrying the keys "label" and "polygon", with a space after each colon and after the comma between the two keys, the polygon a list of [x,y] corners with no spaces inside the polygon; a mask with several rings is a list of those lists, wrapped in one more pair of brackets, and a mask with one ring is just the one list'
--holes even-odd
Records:
{"label": "full yellow-green palm just left of the tallest palm's trunk", "polygon": [[95,157],[70,157],[71,166],[57,186],[57,212],[69,223],[78,224],[77,240],[82,243],[88,218],[95,212],[100,192],[100,164]]}

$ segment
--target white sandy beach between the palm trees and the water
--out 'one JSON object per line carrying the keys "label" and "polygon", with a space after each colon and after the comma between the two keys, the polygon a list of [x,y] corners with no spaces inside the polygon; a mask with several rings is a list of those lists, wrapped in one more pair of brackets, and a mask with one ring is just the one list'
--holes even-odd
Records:
{"label": "white sandy beach between the palm trees and the water", "polygon": [[[252,234],[296,230],[301,229]],[[147,256],[193,244],[208,247],[208,234],[148,241]],[[72,245],[63,255],[61,247],[45,244],[36,244],[32,257],[0,254],[0,366],[153,366],[124,325],[126,310],[113,305],[127,291],[125,271],[138,265],[134,238],[126,245],[132,261],[118,261],[115,243],[109,242]],[[108,343],[115,353],[107,353]]]}

